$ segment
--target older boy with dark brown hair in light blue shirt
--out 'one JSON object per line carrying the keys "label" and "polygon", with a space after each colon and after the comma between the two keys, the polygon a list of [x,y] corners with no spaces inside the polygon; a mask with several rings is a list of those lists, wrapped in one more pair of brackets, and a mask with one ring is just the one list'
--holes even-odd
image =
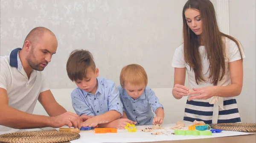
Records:
{"label": "older boy with dark brown hair in light blue shirt", "polygon": [[122,102],[115,83],[98,78],[93,56],[88,50],[74,50],[67,61],[67,75],[77,88],[71,93],[72,105],[76,114],[92,118],[81,126],[104,126],[122,116]]}

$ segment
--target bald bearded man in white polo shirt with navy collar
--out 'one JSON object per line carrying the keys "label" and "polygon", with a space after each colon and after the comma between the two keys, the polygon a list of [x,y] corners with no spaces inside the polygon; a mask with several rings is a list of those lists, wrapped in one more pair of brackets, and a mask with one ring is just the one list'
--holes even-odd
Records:
{"label": "bald bearded man in white polo shirt with navy collar", "polygon": [[[57,46],[58,42],[52,31],[37,27],[26,36],[22,48],[12,50],[9,56],[1,56],[0,132],[58,128],[64,125],[80,128],[80,123],[90,118],[78,117],[59,105],[41,73],[51,62]],[[37,100],[49,117],[32,115]]]}

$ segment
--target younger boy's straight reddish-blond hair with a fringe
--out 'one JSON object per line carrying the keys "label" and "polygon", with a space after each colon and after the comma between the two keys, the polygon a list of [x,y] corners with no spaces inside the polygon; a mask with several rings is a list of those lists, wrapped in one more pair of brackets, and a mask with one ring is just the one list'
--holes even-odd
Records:
{"label": "younger boy's straight reddish-blond hair with a fringe", "polygon": [[148,84],[148,76],[144,68],[139,64],[129,64],[122,68],[120,73],[120,85],[124,88],[125,83],[133,85]]}

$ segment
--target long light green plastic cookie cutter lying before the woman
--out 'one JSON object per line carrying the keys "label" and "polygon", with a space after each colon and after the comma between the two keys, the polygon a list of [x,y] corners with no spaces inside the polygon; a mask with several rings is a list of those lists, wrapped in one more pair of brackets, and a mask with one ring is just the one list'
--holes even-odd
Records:
{"label": "long light green plastic cookie cutter lying before the woman", "polygon": [[196,131],[196,130],[174,130],[175,135],[193,135],[193,136],[204,136],[212,135],[211,131]]}

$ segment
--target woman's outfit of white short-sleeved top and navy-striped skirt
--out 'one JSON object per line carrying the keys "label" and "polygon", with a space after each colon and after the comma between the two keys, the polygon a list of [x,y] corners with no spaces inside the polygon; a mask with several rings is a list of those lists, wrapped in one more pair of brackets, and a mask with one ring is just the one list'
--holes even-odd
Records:
{"label": "woman's outfit of white short-sleeved top and navy-striped skirt", "polygon": [[[217,86],[227,86],[231,84],[230,79],[230,71],[229,71],[229,62],[233,62],[241,59],[241,55],[239,52],[239,48],[235,42],[227,37],[223,37],[226,47],[226,56],[225,56],[225,74],[221,81],[218,81]],[[239,42],[239,47],[241,48],[242,57],[245,58],[244,50]],[[207,86],[213,86],[209,79],[209,61],[207,59],[207,53],[204,46],[199,47],[199,52],[201,55],[202,62],[202,72],[203,77],[206,79],[206,82],[199,82],[199,85],[195,82],[195,73],[190,70],[188,64],[186,64],[183,55],[183,44],[176,48],[173,60],[172,67],[183,68],[186,67],[186,72],[188,74],[189,88],[201,88]],[[208,71],[208,72],[207,72]],[[239,111],[236,104],[236,99],[234,97],[230,98],[222,98],[223,100],[219,100],[218,102],[223,102],[222,107],[219,107],[218,104],[209,104],[209,100],[198,100],[195,99],[193,101],[186,101],[184,121],[193,122],[204,121],[205,123],[236,123],[241,122]]]}

